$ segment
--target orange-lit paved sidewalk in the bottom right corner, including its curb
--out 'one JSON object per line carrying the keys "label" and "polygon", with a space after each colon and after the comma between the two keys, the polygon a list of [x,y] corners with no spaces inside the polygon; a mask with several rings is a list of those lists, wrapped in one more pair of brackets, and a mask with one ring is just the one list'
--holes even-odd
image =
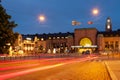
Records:
{"label": "orange-lit paved sidewalk in the bottom right corner, including its curb", "polygon": [[112,80],[120,80],[120,60],[106,60],[105,64]]}

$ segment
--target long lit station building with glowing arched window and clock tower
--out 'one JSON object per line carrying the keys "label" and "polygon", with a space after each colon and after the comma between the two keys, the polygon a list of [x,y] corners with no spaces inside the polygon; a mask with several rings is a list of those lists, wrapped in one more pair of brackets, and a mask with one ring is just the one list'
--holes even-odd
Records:
{"label": "long lit station building with glowing arched window and clock tower", "polygon": [[110,17],[106,20],[105,31],[96,28],[79,28],[74,33],[49,33],[19,35],[16,50],[31,53],[83,53],[85,51],[120,52],[120,30],[112,31]]}

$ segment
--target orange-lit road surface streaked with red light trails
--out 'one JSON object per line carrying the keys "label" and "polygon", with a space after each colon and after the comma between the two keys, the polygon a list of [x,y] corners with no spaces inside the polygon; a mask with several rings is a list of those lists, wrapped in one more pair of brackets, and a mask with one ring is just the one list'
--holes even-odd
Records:
{"label": "orange-lit road surface streaked with red light trails", "polygon": [[111,80],[97,57],[50,58],[0,63],[0,80]]}

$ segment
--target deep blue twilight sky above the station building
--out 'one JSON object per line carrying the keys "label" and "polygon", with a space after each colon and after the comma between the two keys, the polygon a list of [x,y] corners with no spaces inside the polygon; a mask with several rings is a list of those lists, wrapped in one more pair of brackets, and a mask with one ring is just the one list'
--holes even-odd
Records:
{"label": "deep blue twilight sky above the station building", "polygon": [[[74,32],[75,28],[95,27],[105,30],[106,18],[112,19],[113,30],[120,29],[120,0],[2,0],[2,6],[18,24],[21,34]],[[92,9],[99,9],[97,16]],[[46,17],[40,22],[39,15]],[[81,22],[72,26],[72,20]],[[88,21],[93,21],[88,25]]]}

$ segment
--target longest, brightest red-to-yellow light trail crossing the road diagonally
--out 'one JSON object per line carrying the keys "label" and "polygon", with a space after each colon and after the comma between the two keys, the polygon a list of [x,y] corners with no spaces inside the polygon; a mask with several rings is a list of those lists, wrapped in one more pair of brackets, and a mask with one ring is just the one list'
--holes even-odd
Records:
{"label": "longest, brightest red-to-yellow light trail crossing the road diagonally", "polygon": [[[83,62],[83,61],[91,60],[91,59],[95,59],[95,58],[97,58],[97,57],[86,57],[86,58],[77,58],[77,59],[74,58],[74,59],[71,59],[71,60],[68,60],[68,61],[67,61],[67,58],[64,58],[64,59],[66,59],[66,60],[63,59],[64,62],[57,63],[57,64],[54,64],[54,65],[38,67],[38,68],[28,69],[28,70],[24,70],[24,71],[19,71],[19,72],[7,73],[7,74],[0,75],[0,80],[9,79],[9,78],[12,78],[12,77],[16,77],[16,76],[36,72],[36,71],[51,69],[51,68],[55,68],[55,67],[58,67],[58,66],[63,66],[63,65],[71,64],[71,63],[75,63],[75,62]],[[56,60],[56,59],[53,59],[53,60]],[[59,58],[58,60],[62,60],[62,58]]]}

